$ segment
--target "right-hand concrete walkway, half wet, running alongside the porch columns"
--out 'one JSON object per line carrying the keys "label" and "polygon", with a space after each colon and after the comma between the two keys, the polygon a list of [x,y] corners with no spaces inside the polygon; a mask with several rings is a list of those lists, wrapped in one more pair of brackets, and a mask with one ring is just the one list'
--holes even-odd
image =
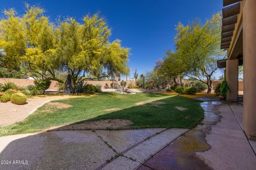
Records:
{"label": "right-hand concrete walkway, half wet, running alongside the porch columns", "polygon": [[239,122],[242,106],[219,101],[201,106],[205,111],[202,123],[138,169],[256,169],[255,142],[247,140]]}

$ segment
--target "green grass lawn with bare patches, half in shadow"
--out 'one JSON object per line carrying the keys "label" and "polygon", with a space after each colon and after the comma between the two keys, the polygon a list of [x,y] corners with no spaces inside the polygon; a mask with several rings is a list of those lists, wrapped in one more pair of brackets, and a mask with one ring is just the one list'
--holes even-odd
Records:
{"label": "green grass lawn with bare patches, half in shadow", "polygon": [[[138,104],[148,100],[157,100],[160,104]],[[56,102],[70,107],[60,109],[50,105]],[[130,120],[133,123],[130,125],[131,129],[192,128],[204,117],[200,101],[178,95],[149,93],[121,95],[103,92],[92,97],[69,98],[51,103],[40,107],[25,121],[0,128],[0,136],[38,132],[54,126],[81,123],[81,121],[107,119]],[[187,110],[180,111],[175,108],[177,106]],[[118,108],[118,111],[111,111],[111,108]]]}

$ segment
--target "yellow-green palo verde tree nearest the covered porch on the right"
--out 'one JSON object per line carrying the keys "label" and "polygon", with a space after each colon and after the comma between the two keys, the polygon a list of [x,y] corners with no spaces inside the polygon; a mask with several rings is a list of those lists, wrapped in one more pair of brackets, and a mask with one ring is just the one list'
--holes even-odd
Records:
{"label": "yellow-green palo verde tree nearest the covered porch on the right", "polygon": [[175,55],[182,65],[186,66],[183,67],[185,75],[205,83],[208,87],[207,93],[210,93],[213,88],[212,75],[217,70],[217,60],[224,58],[223,50],[220,49],[220,13],[212,15],[203,25],[199,20],[187,26],[179,23],[176,30]]}

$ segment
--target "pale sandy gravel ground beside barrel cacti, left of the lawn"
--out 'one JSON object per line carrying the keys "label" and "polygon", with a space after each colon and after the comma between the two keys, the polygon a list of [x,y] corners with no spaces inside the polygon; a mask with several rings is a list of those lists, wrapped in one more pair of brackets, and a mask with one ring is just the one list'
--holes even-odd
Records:
{"label": "pale sandy gravel ground beside barrel cacti, left of the lawn", "polygon": [[27,99],[25,105],[15,105],[11,101],[7,103],[0,103],[0,126],[6,126],[24,120],[28,115],[34,113],[38,107],[43,106],[45,103],[58,100],[67,99],[71,97],[81,96],[43,96],[32,97]]}

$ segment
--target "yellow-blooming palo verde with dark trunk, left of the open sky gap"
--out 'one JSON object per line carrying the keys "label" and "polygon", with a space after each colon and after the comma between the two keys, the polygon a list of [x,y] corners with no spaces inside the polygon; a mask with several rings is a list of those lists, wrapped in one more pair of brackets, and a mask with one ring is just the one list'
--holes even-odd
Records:
{"label": "yellow-blooming palo verde with dark trunk, left of the open sky gap", "polygon": [[87,15],[83,21],[79,24],[69,18],[57,29],[57,55],[61,68],[68,72],[66,90],[72,94],[77,84],[84,80],[128,74],[130,70],[126,65],[129,48],[123,48],[120,40],[109,42],[111,31],[106,22],[98,14]]}

